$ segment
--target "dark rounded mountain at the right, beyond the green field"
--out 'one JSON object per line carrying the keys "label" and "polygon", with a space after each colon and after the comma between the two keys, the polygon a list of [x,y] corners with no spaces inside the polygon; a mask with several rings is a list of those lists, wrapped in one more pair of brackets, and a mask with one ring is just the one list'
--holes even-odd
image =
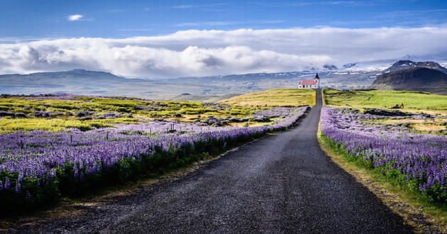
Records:
{"label": "dark rounded mountain at the right, beyond the green field", "polygon": [[447,94],[447,69],[436,62],[399,60],[377,75],[370,88]]}

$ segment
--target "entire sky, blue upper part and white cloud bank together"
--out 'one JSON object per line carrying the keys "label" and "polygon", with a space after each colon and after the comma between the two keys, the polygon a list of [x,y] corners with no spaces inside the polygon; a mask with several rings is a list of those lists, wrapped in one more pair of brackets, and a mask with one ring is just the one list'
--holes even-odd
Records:
{"label": "entire sky, blue upper part and white cloud bank together", "polygon": [[0,0],[0,74],[172,78],[445,58],[446,0]]}

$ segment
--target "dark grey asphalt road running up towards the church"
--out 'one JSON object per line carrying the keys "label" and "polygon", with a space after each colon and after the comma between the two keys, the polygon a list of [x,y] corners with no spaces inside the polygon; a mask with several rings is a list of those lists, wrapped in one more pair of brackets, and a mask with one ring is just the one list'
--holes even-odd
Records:
{"label": "dark grey asphalt road running up towards the church", "polygon": [[290,130],[269,135],[174,182],[150,186],[20,232],[412,233],[319,147],[317,105]]}

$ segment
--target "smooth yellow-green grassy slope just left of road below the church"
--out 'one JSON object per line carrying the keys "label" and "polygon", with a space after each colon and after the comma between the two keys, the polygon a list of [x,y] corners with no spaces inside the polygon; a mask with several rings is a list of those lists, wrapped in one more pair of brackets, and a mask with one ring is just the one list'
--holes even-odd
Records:
{"label": "smooth yellow-green grassy slope just left of road below the church", "polygon": [[315,91],[312,89],[270,89],[233,96],[220,101],[239,106],[314,106]]}

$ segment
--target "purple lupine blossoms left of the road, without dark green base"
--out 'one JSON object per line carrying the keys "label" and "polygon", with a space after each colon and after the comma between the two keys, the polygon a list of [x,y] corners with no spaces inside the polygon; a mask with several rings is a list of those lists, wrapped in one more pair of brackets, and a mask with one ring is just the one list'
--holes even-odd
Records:
{"label": "purple lupine blossoms left of the road, without dark green base", "polygon": [[[264,111],[263,115],[269,118],[284,118],[278,118],[270,126],[250,128],[202,128],[197,123],[150,121],[87,132],[73,128],[70,132],[59,133],[34,130],[0,134],[0,157],[8,152],[7,157],[2,157],[7,160],[0,162],[0,172],[18,173],[18,182],[22,182],[25,177],[32,177],[38,179],[38,186],[43,186],[56,177],[55,169],[64,169],[67,162],[72,163],[75,172],[73,177],[79,178],[84,177],[85,173],[101,173],[126,157],[141,160],[141,155],[153,155],[158,149],[168,152],[190,145],[201,150],[196,145],[216,142],[226,146],[226,143],[241,138],[288,128],[304,115],[306,109],[278,108],[272,109],[270,113]],[[180,131],[165,133],[167,124],[172,124],[174,129]],[[33,147],[28,147],[31,145]],[[22,149],[23,146],[27,146],[26,150]],[[4,188],[9,189],[9,186],[7,179]]]}

